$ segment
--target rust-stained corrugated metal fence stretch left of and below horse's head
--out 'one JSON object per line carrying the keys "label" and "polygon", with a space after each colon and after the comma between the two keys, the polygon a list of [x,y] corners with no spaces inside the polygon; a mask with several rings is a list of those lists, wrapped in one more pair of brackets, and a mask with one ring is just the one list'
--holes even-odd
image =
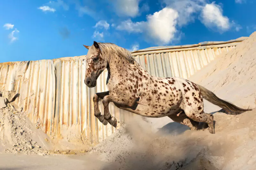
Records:
{"label": "rust-stained corrugated metal fence stretch left of and below horse's head", "polygon": [[[19,93],[15,100],[33,123],[38,118],[44,132],[50,136],[84,134],[97,143],[116,129],[104,126],[94,116],[92,97],[95,92],[107,91],[105,70],[97,80],[97,86],[84,84],[85,56],[0,64],[0,91],[8,95]],[[110,112],[119,121],[132,116],[110,104]],[[103,107],[100,104],[100,111]],[[120,125],[120,123],[118,123]],[[72,126],[75,126],[72,128]],[[68,130],[72,128],[72,131]]]}

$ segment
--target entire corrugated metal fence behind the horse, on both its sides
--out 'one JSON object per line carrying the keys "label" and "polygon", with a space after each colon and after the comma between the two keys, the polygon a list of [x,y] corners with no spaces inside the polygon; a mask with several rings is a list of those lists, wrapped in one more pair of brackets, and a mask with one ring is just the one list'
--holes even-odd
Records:
{"label": "entire corrugated metal fence behind the horse, on both its sides", "polygon": [[[200,45],[140,50],[133,52],[133,55],[154,76],[188,78],[217,55],[235,48],[238,42],[208,43],[203,48]],[[0,91],[5,96],[19,93],[19,98],[15,100],[18,107],[23,107],[33,123],[40,120],[42,129],[49,136],[70,137],[77,134],[96,144],[116,129],[100,123],[93,111],[92,97],[95,92],[108,90],[107,70],[98,78],[96,87],[87,88],[84,84],[84,57],[0,63]],[[100,111],[103,113],[102,104]],[[110,112],[121,122],[133,116],[112,103]],[[118,127],[120,125],[118,123]]]}

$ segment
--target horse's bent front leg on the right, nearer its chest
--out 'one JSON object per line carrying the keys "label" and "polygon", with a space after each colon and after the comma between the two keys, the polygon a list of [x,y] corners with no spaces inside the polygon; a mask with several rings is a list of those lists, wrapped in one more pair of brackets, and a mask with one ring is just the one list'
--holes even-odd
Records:
{"label": "horse's bent front leg on the right, nearer its chest", "polygon": [[116,128],[117,126],[116,118],[110,115],[109,108],[108,108],[108,105],[111,101],[112,99],[110,95],[106,95],[102,100],[102,104],[104,107],[104,119],[106,119],[109,122],[109,124],[111,124]]}

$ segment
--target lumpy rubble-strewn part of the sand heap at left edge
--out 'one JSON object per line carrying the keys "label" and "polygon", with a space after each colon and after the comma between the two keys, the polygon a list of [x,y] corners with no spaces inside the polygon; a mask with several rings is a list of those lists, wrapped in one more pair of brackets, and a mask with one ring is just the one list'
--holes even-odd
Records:
{"label": "lumpy rubble-strewn part of the sand heap at left edge", "polygon": [[45,154],[41,144],[33,140],[33,125],[28,123],[24,113],[17,111],[12,105],[4,107],[1,97],[0,110],[0,152],[24,153],[24,154]]}

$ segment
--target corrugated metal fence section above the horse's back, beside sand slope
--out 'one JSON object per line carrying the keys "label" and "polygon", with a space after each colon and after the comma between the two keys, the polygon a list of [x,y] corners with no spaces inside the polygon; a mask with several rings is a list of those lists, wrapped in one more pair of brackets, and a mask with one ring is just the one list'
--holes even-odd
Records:
{"label": "corrugated metal fence section above the horse's back, beside sand slope", "polygon": [[132,52],[140,65],[156,77],[189,78],[216,56],[228,52],[243,39],[194,45],[147,48]]}

